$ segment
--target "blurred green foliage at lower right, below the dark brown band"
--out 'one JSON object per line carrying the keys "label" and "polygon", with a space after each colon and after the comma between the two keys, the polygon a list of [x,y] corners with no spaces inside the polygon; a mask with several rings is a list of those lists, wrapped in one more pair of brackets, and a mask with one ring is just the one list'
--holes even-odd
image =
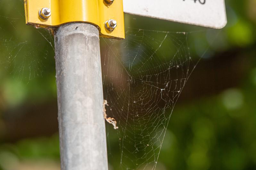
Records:
{"label": "blurred green foliage at lower right, below the dark brown band", "polygon": [[167,169],[255,169],[255,87],[246,82],[176,107],[160,161]]}

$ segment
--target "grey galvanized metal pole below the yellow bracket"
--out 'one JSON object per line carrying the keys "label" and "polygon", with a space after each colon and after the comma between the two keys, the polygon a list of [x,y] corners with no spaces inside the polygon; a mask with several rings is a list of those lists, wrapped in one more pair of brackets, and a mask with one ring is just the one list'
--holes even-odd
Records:
{"label": "grey galvanized metal pole below the yellow bracket", "polygon": [[62,170],[107,170],[98,29],[87,23],[54,33]]}

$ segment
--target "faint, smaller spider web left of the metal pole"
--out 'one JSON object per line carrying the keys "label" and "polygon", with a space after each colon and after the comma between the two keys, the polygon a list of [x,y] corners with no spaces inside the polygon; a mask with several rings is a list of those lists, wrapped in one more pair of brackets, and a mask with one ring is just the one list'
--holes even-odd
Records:
{"label": "faint, smaller spider web left of the metal pole", "polygon": [[0,66],[5,70],[0,71],[27,83],[43,77],[48,55],[53,53],[49,49],[54,50],[53,36],[25,24],[24,0],[0,0],[0,5],[5,7],[0,11]]}

